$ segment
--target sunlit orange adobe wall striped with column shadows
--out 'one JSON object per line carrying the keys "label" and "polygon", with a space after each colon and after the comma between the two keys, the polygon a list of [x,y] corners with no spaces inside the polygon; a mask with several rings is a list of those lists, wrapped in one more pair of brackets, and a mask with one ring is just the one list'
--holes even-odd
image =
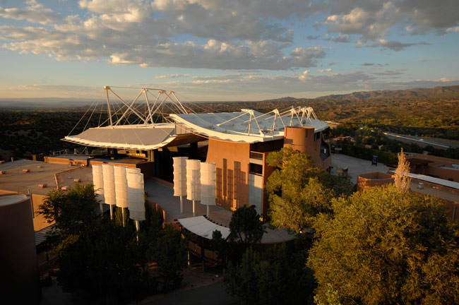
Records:
{"label": "sunlit orange adobe wall striped with column shadows", "polygon": [[249,203],[250,143],[209,139],[206,162],[216,164],[216,203],[236,210]]}

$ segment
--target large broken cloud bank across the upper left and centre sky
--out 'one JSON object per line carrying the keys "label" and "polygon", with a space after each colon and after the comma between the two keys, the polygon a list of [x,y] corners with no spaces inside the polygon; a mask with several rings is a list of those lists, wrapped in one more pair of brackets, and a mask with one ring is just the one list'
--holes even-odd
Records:
{"label": "large broken cloud bank across the upper left and centre sky", "polygon": [[[247,6],[242,0],[80,0],[78,5],[88,14],[66,16],[51,27],[1,26],[3,47],[58,61],[107,59],[142,67],[285,70],[316,66],[326,56],[321,47],[294,46],[293,30],[280,23],[318,9],[304,1]],[[4,18],[16,18],[11,10],[18,9],[3,11],[8,10]],[[23,11],[52,13],[35,1]],[[181,35],[191,39],[177,39]]]}

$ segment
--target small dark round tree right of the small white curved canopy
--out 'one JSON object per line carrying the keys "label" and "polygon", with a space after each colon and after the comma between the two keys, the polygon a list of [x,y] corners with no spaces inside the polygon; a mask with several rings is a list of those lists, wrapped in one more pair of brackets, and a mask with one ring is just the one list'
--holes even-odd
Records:
{"label": "small dark round tree right of the small white curved canopy", "polygon": [[229,240],[249,245],[261,241],[263,224],[256,213],[255,205],[243,206],[234,211],[229,222]]}

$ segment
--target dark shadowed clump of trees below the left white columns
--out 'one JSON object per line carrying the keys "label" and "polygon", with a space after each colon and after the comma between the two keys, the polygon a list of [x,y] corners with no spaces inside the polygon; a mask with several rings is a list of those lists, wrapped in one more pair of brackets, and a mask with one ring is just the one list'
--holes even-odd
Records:
{"label": "dark shadowed clump of trees below the left white columns", "polygon": [[76,184],[51,191],[40,206],[38,213],[56,221],[47,243],[58,257],[59,284],[84,304],[126,304],[179,287],[187,251],[181,232],[163,228],[145,205],[137,241],[132,221],[122,227],[120,219],[97,215],[98,205],[91,184]]}

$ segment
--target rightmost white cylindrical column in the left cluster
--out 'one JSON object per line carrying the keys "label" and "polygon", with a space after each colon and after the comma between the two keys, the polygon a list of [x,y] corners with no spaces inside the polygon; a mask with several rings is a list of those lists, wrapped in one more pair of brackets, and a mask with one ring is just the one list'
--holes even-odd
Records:
{"label": "rightmost white cylindrical column in the left cluster", "polygon": [[126,177],[128,181],[129,217],[132,220],[145,220],[143,174],[128,172]]}

